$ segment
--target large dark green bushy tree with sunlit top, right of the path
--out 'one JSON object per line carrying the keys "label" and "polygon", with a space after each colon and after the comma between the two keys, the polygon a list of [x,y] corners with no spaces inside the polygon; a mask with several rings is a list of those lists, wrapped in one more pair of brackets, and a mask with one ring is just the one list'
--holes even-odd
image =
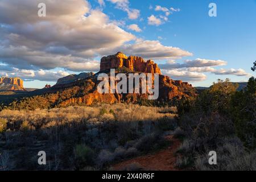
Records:
{"label": "large dark green bushy tree with sunlit top, right of the path", "polygon": [[[180,115],[179,124],[187,137],[214,145],[221,137],[234,134],[229,106],[237,85],[227,78],[213,83],[195,101],[187,104],[187,113]],[[182,113],[182,112],[179,112]],[[203,143],[204,144],[204,143]]]}

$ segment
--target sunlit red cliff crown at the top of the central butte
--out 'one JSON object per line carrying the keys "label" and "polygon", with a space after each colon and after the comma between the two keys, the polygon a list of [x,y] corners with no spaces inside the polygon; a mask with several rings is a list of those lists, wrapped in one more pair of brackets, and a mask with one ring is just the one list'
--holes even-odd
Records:
{"label": "sunlit red cliff crown at the top of the central butte", "polygon": [[104,71],[111,68],[129,68],[134,72],[144,72],[144,73],[158,73],[161,71],[157,64],[152,60],[143,60],[142,57],[129,56],[127,57],[124,53],[118,52],[115,55],[102,57],[100,70]]}

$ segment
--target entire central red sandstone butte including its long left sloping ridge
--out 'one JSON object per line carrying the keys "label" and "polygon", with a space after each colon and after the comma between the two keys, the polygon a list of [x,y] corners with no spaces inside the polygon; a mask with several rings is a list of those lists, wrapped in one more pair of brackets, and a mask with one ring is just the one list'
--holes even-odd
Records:
{"label": "entire central red sandstone butte including its long left sloping ridge", "polygon": [[[118,68],[115,70],[115,75],[124,73],[127,77],[129,77],[129,73],[133,72],[144,72],[146,75],[148,73],[159,73],[159,97],[158,100],[153,101],[155,104],[166,104],[167,102],[169,104],[175,104],[182,98],[196,96],[196,89],[193,88],[192,85],[180,80],[175,81],[168,76],[161,75],[158,65],[151,60],[144,61],[141,57],[137,56],[127,57],[123,53],[118,52],[116,55],[102,57],[100,67],[101,71],[104,71],[104,73],[109,76],[111,68]],[[98,73],[96,73],[96,75],[93,73],[81,73],[80,75],[69,75],[60,78],[57,84],[51,88],[39,91],[36,90],[34,92],[35,97],[29,100],[25,99],[24,102],[21,100],[20,109],[23,109],[23,107],[48,109],[72,105],[89,106],[97,102],[106,104],[114,104],[117,102],[134,104],[150,102],[148,101],[148,93],[100,94],[97,91],[97,86],[101,81],[98,80],[97,76]],[[118,80],[115,80],[115,84],[118,82]],[[129,82],[129,79],[127,82]],[[139,86],[139,90],[141,90],[142,84]],[[32,103],[38,103],[38,105]],[[19,104],[15,103],[15,108],[19,108]]]}

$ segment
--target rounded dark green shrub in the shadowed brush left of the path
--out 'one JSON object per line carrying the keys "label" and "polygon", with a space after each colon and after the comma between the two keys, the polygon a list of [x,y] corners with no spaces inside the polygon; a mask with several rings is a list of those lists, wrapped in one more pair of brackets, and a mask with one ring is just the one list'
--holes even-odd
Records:
{"label": "rounded dark green shrub in the shadowed brush left of the path", "polygon": [[92,148],[85,146],[84,144],[79,144],[75,147],[75,160],[76,167],[81,168],[84,166],[92,166],[94,164],[94,151]]}

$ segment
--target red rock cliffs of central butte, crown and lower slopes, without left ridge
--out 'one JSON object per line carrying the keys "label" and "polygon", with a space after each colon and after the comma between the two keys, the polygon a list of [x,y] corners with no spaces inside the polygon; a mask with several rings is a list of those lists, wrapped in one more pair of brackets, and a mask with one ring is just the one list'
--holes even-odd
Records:
{"label": "red rock cliffs of central butte, crown and lower slopes, without left ridge", "polygon": [[[126,67],[126,69],[121,69]],[[172,80],[168,76],[161,75],[161,71],[158,68],[158,65],[154,61],[148,60],[144,61],[142,57],[130,56],[127,57],[125,54],[118,52],[115,55],[110,55],[107,57],[102,57],[101,71],[105,71],[109,74],[110,69],[116,68],[115,74],[126,73],[128,77],[130,72],[144,72],[144,73],[158,73],[159,74],[159,98],[161,101],[174,101],[180,100],[183,97],[195,97],[195,88],[192,87],[188,82],[183,82],[181,80]],[[96,74],[97,75],[97,74]],[[154,79],[153,79],[154,81]],[[86,84],[85,84],[86,82]],[[132,102],[137,103],[140,100],[147,100],[148,94],[99,94],[97,92],[97,77],[91,77],[84,82],[84,85],[87,85],[87,88],[90,88],[88,94],[84,96],[70,98],[60,103],[61,106],[68,105],[92,105],[94,102],[104,102],[108,104],[113,104],[115,102]],[[115,81],[117,84],[118,81]],[[89,85],[89,86],[88,86]],[[109,85],[110,86],[110,85]],[[141,86],[141,85],[140,85]],[[81,91],[80,91],[81,92]]]}

